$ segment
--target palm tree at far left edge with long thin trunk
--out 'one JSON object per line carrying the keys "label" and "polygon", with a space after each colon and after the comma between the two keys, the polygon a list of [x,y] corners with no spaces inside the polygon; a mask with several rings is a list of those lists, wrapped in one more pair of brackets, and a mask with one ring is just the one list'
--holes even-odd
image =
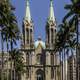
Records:
{"label": "palm tree at far left edge with long thin trunk", "polygon": [[1,44],[2,44],[2,80],[3,80],[3,68],[4,68],[4,63],[3,63],[3,57],[4,57],[4,52],[3,52],[3,27],[5,26],[5,22],[6,22],[6,13],[5,11],[7,10],[7,7],[6,3],[4,0],[1,0],[0,1],[0,28],[1,28]]}

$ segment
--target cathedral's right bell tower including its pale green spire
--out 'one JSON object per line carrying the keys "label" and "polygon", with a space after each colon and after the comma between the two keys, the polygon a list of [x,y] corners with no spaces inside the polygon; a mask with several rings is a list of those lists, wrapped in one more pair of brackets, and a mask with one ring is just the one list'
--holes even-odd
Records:
{"label": "cathedral's right bell tower including its pale green spire", "polygon": [[47,48],[51,48],[51,49],[54,48],[55,33],[56,33],[56,22],[55,22],[54,9],[53,9],[53,0],[50,0],[50,11],[46,23],[46,47]]}

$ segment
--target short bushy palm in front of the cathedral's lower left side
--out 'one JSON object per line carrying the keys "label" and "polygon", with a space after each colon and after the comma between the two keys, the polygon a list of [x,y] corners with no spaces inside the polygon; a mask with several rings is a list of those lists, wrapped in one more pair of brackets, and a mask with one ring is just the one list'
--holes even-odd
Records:
{"label": "short bushy palm in front of the cathedral's lower left side", "polygon": [[23,54],[19,50],[14,49],[11,52],[11,58],[14,63],[14,80],[20,80],[21,74],[24,72]]}

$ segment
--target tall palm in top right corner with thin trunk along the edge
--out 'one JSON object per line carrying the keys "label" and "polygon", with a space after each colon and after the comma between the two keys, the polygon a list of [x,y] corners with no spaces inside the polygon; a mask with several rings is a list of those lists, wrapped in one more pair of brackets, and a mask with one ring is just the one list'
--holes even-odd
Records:
{"label": "tall palm in top right corner with thin trunk along the edge", "polygon": [[80,17],[80,0],[71,0],[71,4],[67,4],[65,6],[65,9],[68,10],[68,13],[66,14],[66,16],[64,17],[63,21],[65,20],[69,20],[71,21],[71,24],[74,23],[75,21],[75,27],[76,27],[76,60],[77,60],[77,80],[79,80],[79,76],[78,76],[78,56],[79,56],[79,52],[78,52],[78,47],[79,47],[79,28],[78,28],[78,24],[79,24],[79,17]]}

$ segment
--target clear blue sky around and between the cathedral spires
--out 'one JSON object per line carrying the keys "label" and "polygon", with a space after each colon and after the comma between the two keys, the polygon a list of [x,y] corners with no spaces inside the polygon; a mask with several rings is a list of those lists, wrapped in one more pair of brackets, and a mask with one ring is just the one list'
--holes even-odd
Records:
{"label": "clear blue sky around and between the cathedral spires", "polygon": [[[65,4],[70,0],[53,0],[54,14],[57,24],[61,23],[62,18],[66,14],[64,9]],[[26,0],[11,0],[15,6],[15,15],[17,17],[18,26],[22,31],[22,21],[25,16]],[[50,0],[30,0],[31,16],[34,22],[34,40],[38,36],[42,37],[45,41],[45,25],[49,15]],[[0,44],[1,46],[1,44]],[[20,44],[18,44],[20,46]]]}

